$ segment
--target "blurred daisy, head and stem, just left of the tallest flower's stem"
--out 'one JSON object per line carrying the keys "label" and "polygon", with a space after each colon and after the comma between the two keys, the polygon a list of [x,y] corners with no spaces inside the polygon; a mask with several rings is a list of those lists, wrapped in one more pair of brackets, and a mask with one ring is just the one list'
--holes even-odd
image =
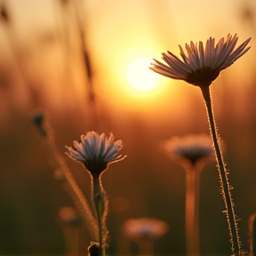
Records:
{"label": "blurred daisy, head and stem, just left of the tallest flower's stem", "polygon": [[214,158],[212,139],[206,134],[175,136],[164,140],[160,149],[186,172],[186,249],[188,256],[200,255],[199,248],[199,188],[204,165]]}

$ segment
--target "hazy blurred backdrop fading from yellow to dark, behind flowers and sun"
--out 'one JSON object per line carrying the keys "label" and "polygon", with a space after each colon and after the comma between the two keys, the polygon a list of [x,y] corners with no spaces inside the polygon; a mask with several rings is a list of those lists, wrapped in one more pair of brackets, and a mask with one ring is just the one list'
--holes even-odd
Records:
{"label": "hazy blurred backdrop fading from yellow to dark, behind flowers and sun", "polygon": [[[64,156],[81,134],[113,132],[128,157],[103,175],[109,196],[110,255],[131,255],[120,232],[124,220],[153,217],[169,223],[155,244],[156,255],[184,255],[185,172],[162,154],[159,141],[208,133],[200,90],[161,77],[156,90],[137,92],[126,68],[139,57],[160,59],[190,40],[252,36],[252,49],[212,84],[214,110],[234,186],[240,235],[248,249],[248,219],[256,212],[256,62],[252,0],[8,0],[0,1],[0,254],[64,254],[58,210],[72,200],[53,179],[47,154],[30,116],[51,116],[56,145]],[[85,55],[84,55],[85,54]],[[84,62],[89,57],[91,69]],[[68,166],[90,195],[82,165]],[[227,223],[215,164],[202,172],[201,251],[228,255]],[[127,199],[121,214],[116,198]],[[80,254],[90,243],[80,236]],[[117,242],[116,242],[117,241]]]}

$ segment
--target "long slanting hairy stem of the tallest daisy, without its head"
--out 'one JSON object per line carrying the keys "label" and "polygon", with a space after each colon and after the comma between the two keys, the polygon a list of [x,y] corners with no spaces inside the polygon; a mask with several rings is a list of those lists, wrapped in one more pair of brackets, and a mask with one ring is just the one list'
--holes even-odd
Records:
{"label": "long slanting hairy stem of the tallest daisy, without its head", "polygon": [[220,177],[220,191],[226,207],[226,214],[228,220],[228,230],[230,235],[231,250],[235,255],[240,254],[240,242],[238,236],[237,220],[234,209],[234,204],[231,196],[230,185],[228,182],[228,173],[225,168],[223,157],[220,150],[220,144],[218,141],[217,130],[215,126],[215,120],[212,108],[212,97],[210,92],[210,86],[201,86],[203,92],[205,107],[207,110],[208,121],[210,126],[210,132],[212,134],[212,141],[215,148],[216,160],[218,164],[218,172]]}

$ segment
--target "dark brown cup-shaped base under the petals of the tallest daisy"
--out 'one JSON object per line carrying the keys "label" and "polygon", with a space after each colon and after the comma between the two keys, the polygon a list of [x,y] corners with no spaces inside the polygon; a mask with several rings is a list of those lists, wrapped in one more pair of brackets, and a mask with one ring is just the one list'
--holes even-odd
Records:
{"label": "dark brown cup-shaped base under the petals of the tallest daisy", "polygon": [[193,84],[196,86],[210,86],[212,81],[214,81],[220,75],[219,68],[212,67],[202,67],[190,72],[186,77],[186,82],[188,84]]}

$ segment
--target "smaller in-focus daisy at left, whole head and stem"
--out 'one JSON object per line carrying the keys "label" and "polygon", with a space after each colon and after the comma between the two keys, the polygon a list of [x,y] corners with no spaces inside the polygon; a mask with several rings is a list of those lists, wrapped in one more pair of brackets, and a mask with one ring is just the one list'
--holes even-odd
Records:
{"label": "smaller in-focus daisy at left, whole head and stem", "polygon": [[116,140],[112,133],[87,132],[81,136],[81,142],[74,141],[75,149],[67,147],[66,154],[84,165],[92,177],[92,195],[95,215],[99,225],[100,256],[105,255],[107,228],[106,217],[108,200],[101,183],[101,174],[108,168],[108,164],[118,162],[125,156],[117,156],[123,148],[122,140]]}

